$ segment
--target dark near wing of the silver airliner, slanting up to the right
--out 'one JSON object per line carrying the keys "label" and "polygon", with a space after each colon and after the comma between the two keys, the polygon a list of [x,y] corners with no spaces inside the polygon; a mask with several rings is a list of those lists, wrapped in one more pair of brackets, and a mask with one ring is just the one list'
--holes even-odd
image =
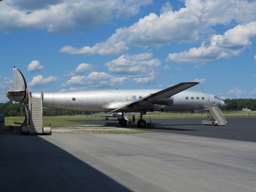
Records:
{"label": "dark near wing of the silver airliner, slanting up to the right", "polygon": [[145,96],[143,98],[140,98],[138,100],[134,100],[122,107],[116,108],[111,111],[112,112],[117,112],[118,110],[124,110],[128,108],[132,108],[134,105],[141,104],[142,102],[146,101],[149,98],[156,98],[156,99],[163,99],[163,98],[169,98],[179,92],[182,92],[192,86],[195,86],[199,84],[199,82],[182,82],[180,84],[176,84],[174,86],[171,86],[169,88],[166,88],[164,90],[158,91],[156,93],[150,94],[148,96]]}

